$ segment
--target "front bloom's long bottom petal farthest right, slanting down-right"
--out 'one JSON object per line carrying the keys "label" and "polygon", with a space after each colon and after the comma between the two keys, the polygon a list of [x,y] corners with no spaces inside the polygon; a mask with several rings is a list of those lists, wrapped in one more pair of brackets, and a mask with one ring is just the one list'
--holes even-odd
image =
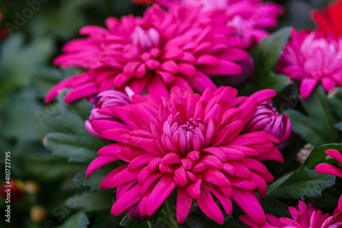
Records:
{"label": "front bloom's long bottom petal farthest right, slanting down-right", "polygon": [[233,201],[259,226],[266,222],[265,212],[249,190],[233,188]]}

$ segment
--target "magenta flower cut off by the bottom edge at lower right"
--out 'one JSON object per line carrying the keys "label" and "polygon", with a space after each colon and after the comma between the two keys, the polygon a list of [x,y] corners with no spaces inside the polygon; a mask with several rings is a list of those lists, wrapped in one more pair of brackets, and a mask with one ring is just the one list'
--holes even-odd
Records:
{"label": "magenta flower cut off by the bottom edge at lower right", "polygon": [[334,214],[323,214],[319,209],[309,204],[308,207],[303,201],[298,202],[298,210],[295,207],[289,207],[291,218],[276,218],[272,214],[266,214],[267,222],[263,226],[256,225],[243,215],[239,218],[252,228],[341,228],[342,227],[342,212],[335,210]]}

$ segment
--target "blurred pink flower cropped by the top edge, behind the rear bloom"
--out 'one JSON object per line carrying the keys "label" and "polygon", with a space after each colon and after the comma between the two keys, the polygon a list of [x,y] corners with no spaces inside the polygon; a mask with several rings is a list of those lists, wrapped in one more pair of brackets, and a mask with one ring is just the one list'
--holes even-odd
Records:
{"label": "blurred pink flower cropped by the top edge, behind the rear bloom", "polygon": [[263,0],[159,0],[161,5],[202,5],[205,12],[222,9],[229,16],[227,25],[235,27],[237,34],[248,46],[260,42],[266,35],[265,28],[277,25],[277,16],[284,11],[281,5],[265,3]]}

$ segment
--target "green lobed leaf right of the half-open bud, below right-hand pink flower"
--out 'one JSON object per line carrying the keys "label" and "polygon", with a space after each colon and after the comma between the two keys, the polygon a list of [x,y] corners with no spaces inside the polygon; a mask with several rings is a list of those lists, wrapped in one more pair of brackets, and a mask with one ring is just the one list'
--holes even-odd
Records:
{"label": "green lobed leaf right of the half-open bud, below right-hand pink flower", "polygon": [[341,142],[341,132],[334,128],[338,120],[321,86],[317,86],[308,99],[295,99],[300,100],[308,116],[297,110],[287,110],[293,131],[313,145]]}

